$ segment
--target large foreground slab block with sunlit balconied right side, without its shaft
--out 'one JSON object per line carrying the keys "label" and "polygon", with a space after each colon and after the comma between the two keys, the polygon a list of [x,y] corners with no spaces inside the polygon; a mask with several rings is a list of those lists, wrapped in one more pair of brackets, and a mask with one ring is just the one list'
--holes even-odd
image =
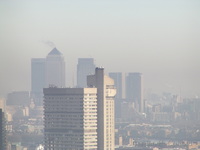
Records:
{"label": "large foreground slab block with sunlit balconied right side, without its shaft", "polygon": [[97,149],[97,89],[44,89],[44,149]]}

